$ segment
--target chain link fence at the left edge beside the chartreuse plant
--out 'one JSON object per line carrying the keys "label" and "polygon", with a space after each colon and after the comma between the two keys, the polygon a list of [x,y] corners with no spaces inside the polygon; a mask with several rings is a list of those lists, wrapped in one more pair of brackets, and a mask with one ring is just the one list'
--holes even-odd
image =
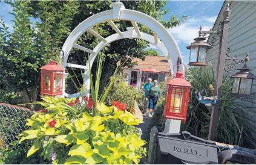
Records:
{"label": "chain link fence at the left edge beside the chartreuse plant", "polygon": [[26,120],[33,113],[24,107],[0,103],[0,138],[4,148],[18,140],[16,136],[28,129],[28,126],[25,126]]}

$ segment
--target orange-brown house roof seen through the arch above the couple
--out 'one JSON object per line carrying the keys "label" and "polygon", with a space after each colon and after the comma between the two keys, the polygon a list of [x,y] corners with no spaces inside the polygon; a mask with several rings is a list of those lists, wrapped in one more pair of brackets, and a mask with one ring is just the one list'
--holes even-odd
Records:
{"label": "orange-brown house roof seen through the arch above the couple", "polygon": [[166,57],[163,56],[146,56],[145,60],[142,61],[140,58],[134,58],[133,62],[137,63],[133,69],[149,69],[153,68],[161,72],[170,72],[169,63]]}

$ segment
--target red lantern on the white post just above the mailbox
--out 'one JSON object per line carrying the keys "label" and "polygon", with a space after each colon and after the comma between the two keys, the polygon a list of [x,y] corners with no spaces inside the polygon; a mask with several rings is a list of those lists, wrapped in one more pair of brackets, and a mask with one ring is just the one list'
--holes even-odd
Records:
{"label": "red lantern on the white post just above the mailbox", "polygon": [[185,123],[189,92],[192,86],[180,72],[177,72],[176,76],[168,81],[167,86],[165,119],[182,120]]}

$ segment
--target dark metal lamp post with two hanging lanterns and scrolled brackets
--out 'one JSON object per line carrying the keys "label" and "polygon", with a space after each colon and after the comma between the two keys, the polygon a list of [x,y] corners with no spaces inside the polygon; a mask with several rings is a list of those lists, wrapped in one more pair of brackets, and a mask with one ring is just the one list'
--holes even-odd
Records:
{"label": "dark metal lamp post with two hanging lanterns and scrolled brackets", "polygon": [[[222,86],[222,81],[223,81],[223,74],[225,71],[231,72],[231,70],[235,70],[235,64],[243,64],[244,62],[249,60],[248,54],[246,55],[246,58],[236,58],[236,57],[231,57],[228,55],[228,52],[230,49],[226,48],[226,45],[228,43],[228,32],[229,32],[229,16],[231,14],[231,10],[229,10],[229,4],[226,6],[226,10],[223,12],[223,17],[224,20],[218,25],[220,25],[220,28],[218,30],[213,31],[202,31],[202,27],[200,27],[199,31],[199,37],[197,37],[194,43],[189,45],[187,48],[191,49],[191,54],[189,58],[189,65],[190,66],[204,66],[205,64],[205,50],[203,51],[202,54],[200,52],[197,52],[197,56],[194,54],[194,49],[192,51],[192,48],[195,46],[198,46],[200,49],[200,46],[204,46],[204,48],[209,49],[212,48],[212,46],[215,46],[214,43],[217,41],[217,37],[219,37],[219,43],[220,43],[220,49],[219,49],[219,54],[218,54],[218,64],[217,64],[217,76],[216,76],[216,81],[215,81],[215,89],[214,89],[214,95],[220,97],[220,87]],[[206,35],[210,34],[208,38],[208,43],[203,42],[202,38],[206,38]],[[216,37],[217,36],[217,37]],[[195,48],[196,49],[196,48]],[[204,56],[203,56],[204,55]],[[194,57],[197,57],[195,60]],[[226,60],[232,60],[235,62],[232,64],[225,64]],[[252,81],[253,79],[256,79],[255,76],[252,75],[251,72],[249,72],[251,69],[249,69],[246,64],[243,68],[239,69],[240,72],[237,74],[231,76],[231,78],[234,79],[234,84],[232,86],[232,91],[231,93],[235,96],[243,96],[243,97],[248,97],[251,94],[251,88],[252,88]],[[218,121],[218,110],[220,108],[220,102],[217,102],[213,107],[212,107],[212,113],[211,113],[211,123],[210,123],[210,128],[209,128],[209,135],[208,139],[209,140],[214,140],[216,129],[217,129],[217,121]]]}

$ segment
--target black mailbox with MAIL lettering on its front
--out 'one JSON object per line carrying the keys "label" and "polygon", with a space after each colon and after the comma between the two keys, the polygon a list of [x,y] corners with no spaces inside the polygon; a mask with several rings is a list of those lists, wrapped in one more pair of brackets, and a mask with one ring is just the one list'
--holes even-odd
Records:
{"label": "black mailbox with MAIL lettering on its front", "polygon": [[217,146],[189,132],[159,132],[156,164],[218,164]]}

